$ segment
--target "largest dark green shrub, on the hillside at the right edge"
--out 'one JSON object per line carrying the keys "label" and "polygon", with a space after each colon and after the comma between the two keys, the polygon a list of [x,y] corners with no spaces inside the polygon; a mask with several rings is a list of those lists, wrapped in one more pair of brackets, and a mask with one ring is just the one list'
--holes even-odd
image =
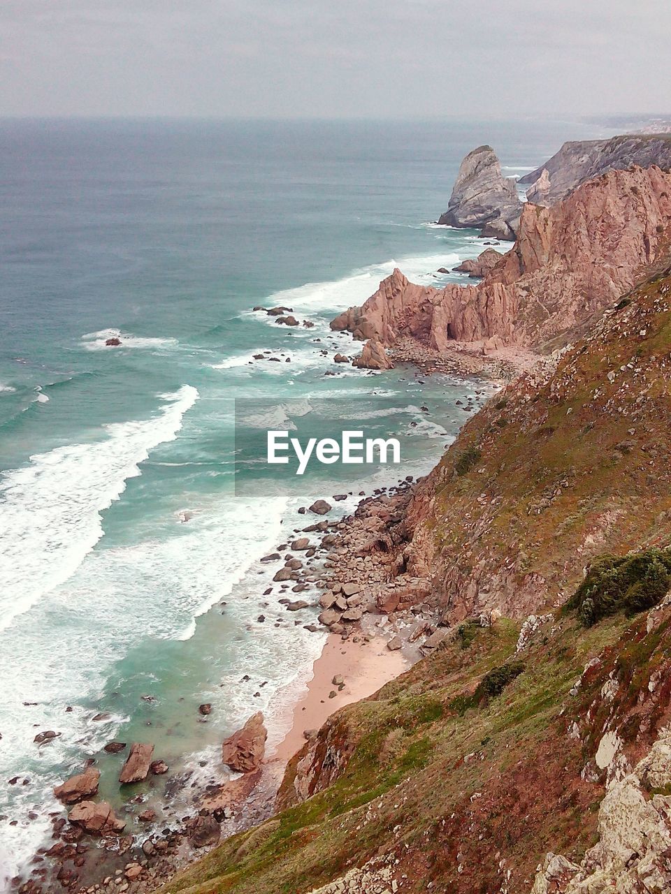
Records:
{"label": "largest dark green shrub, on the hillside at the right edge", "polygon": [[583,627],[624,611],[627,615],[657,605],[671,589],[671,550],[651,549],[593,562],[567,608],[576,609]]}

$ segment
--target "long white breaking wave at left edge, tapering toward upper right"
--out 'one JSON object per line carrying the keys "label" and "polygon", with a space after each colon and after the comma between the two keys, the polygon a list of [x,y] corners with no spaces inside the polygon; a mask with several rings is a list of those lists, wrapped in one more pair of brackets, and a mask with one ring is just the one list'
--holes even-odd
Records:
{"label": "long white breaking wave at left edge, tapering toward upper right", "polygon": [[149,451],[171,441],[198,392],[184,385],[158,417],[106,426],[97,443],[30,458],[0,480],[0,629],[72,575],[103,534],[100,512],[140,475]]}

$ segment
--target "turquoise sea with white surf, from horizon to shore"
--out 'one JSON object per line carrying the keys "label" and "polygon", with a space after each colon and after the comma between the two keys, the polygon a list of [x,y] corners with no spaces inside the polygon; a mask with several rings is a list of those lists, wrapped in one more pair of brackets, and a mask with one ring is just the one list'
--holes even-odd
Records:
{"label": "turquoise sea with white surf, from horizon to shore", "polygon": [[[328,320],[394,266],[458,278],[437,268],[480,240],[430,222],[471,148],[491,143],[512,175],[595,135],[575,122],[0,122],[6,875],[87,756],[121,805],[122,758],[98,755],[110,739],[154,742],[194,774],[188,788],[221,778],[217,744],[252,711],[271,745],[281,737],[323,635],[303,627],[316,611],[287,620],[279,594],[262,595],[274,569],[258,560],[306,523],[300,505],[343,487],[327,471],[274,487],[243,468],[236,496],[234,398],[280,419],[283,401],[342,401],[375,434],[418,422],[400,475],[362,472],[353,493],[428,471],[463,423],[455,401],[480,384],[335,367],[335,350],[354,350]],[[257,304],[314,327],[276,325]],[[262,350],[282,362],[251,364]],[[61,735],[38,747],[41,730]],[[152,784],[162,793],[166,777]]]}

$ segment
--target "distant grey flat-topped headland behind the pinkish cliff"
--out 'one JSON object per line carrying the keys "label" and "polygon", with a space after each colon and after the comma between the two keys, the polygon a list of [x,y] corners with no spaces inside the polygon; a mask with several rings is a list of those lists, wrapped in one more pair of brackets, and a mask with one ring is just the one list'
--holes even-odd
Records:
{"label": "distant grey flat-topped headland behind the pinkish cliff", "polygon": [[637,164],[671,169],[668,134],[626,134],[612,139],[566,142],[545,164],[520,179],[531,184],[527,198],[539,205],[554,205],[586,180]]}

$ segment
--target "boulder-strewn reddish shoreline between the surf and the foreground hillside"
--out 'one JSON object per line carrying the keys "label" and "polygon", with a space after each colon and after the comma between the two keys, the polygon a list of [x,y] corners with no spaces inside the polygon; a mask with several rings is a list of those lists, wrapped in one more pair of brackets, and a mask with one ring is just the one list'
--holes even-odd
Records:
{"label": "boulder-strewn reddish shoreline between the surf and the foreground hillside", "polygon": [[[391,553],[382,546],[397,541],[404,510],[417,486],[418,482],[408,477],[395,487],[378,488],[371,496],[361,494],[357,509],[342,519],[329,520],[326,516],[346,494],[335,494],[333,503],[319,500],[304,508],[306,516],[318,520],[296,528],[287,543],[263,557],[261,561],[271,570],[279,565],[264,595],[269,596],[270,590],[285,611],[301,612],[318,605],[316,596],[311,595],[308,601],[302,595],[319,589],[319,625],[338,641],[364,648],[372,637],[382,636],[390,657],[402,649],[410,662],[427,654],[446,632],[438,628],[437,605],[429,598],[428,583],[410,572],[399,575],[390,561]],[[375,633],[367,628],[373,617],[378,621]],[[262,619],[259,616],[260,623]],[[317,632],[319,625],[306,626]],[[343,687],[344,679],[335,674],[329,680],[330,695],[318,694],[321,703],[337,709],[340,704],[328,700]],[[207,704],[201,705],[200,713],[208,713],[208,708]],[[156,819],[153,809],[140,810],[137,819],[140,828],[147,826],[147,834],[138,834],[137,830],[128,833],[126,814],[116,815],[106,801],[94,800],[100,773],[95,759],[89,759],[83,772],[55,789],[55,796],[68,813],[50,814],[53,844],[38,849],[31,860],[29,880],[13,879],[13,890],[18,894],[45,894],[49,890],[144,894],[155,890],[198,858],[203,849],[275,812],[276,793],[285,763],[292,755],[282,755],[281,760],[265,759],[266,736],[263,715],[252,715],[222,745],[222,763],[240,775],[203,784],[193,796],[193,812],[175,817],[162,829],[152,829]],[[115,749],[116,745],[110,743],[106,750],[122,751],[126,747],[118,743],[120,747]],[[152,757],[153,746],[133,743],[120,774],[123,784],[132,785],[151,774],[167,772],[166,764],[152,761]],[[187,779],[174,777],[171,781],[179,789]],[[141,805],[144,796],[133,796],[129,790],[130,803]]]}

